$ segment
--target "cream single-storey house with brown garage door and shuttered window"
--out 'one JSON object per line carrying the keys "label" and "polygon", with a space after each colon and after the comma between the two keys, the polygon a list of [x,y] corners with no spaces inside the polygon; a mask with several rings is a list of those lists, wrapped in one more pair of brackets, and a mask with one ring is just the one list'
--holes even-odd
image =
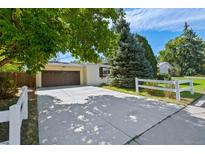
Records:
{"label": "cream single-storey house with brown garage door and shuttered window", "polygon": [[109,65],[48,63],[36,74],[37,87],[100,85],[107,82]]}

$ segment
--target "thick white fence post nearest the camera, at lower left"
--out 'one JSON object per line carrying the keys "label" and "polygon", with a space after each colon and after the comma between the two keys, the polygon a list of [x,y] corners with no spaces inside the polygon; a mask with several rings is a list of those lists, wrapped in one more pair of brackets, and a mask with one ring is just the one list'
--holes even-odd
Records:
{"label": "thick white fence post nearest the camera, at lower left", "polygon": [[17,105],[9,108],[9,144],[21,143],[21,114]]}

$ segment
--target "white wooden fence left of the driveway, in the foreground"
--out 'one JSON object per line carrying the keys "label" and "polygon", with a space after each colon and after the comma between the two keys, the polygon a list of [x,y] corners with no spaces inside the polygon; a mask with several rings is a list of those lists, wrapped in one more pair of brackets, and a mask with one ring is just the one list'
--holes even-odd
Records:
{"label": "white wooden fence left of the driveway, in the foreground", "polygon": [[9,122],[9,141],[0,144],[21,144],[21,124],[28,119],[28,88],[22,87],[20,98],[7,111],[0,112],[0,123]]}

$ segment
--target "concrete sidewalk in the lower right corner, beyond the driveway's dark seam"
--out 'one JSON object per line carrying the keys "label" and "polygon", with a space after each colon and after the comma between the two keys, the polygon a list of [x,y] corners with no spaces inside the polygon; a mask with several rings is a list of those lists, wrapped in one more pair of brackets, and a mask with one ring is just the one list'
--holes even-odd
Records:
{"label": "concrete sidewalk in the lower right corner, beyond the driveway's dark seam", "polygon": [[129,144],[152,145],[204,145],[205,144],[205,96]]}

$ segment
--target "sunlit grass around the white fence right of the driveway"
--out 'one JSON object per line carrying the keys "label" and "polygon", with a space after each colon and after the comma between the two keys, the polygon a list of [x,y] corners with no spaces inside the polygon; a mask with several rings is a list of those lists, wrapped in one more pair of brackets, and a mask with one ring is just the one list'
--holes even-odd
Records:
{"label": "sunlit grass around the white fence right of the driveway", "polygon": [[[184,77],[177,77],[173,78],[173,80],[178,79],[178,80],[187,80],[187,78]],[[193,80],[193,85],[194,85],[194,95],[191,95],[190,92],[182,92],[181,93],[181,101],[177,101],[175,99],[175,93],[171,92],[164,92],[160,90],[150,90],[148,92],[148,89],[141,89],[140,93],[138,95],[145,96],[145,97],[150,97],[153,99],[158,99],[162,101],[166,101],[168,103],[175,103],[175,104],[180,104],[180,105],[188,105],[197,98],[201,97],[202,95],[205,94],[205,78],[198,79],[198,78],[191,78]],[[160,84],[159,86],[164,87],[164,85]],[[180,87],[186,87],[188,84],[183,84],[180,85]],[[130,89],[130,88],[118,88],[118,87],[113,87],[113,86],[101,86],[102,88],[105,89],[110,89],[118,92],[123,92],[131,95],[137,95],[135,92],[135,89]]]}

